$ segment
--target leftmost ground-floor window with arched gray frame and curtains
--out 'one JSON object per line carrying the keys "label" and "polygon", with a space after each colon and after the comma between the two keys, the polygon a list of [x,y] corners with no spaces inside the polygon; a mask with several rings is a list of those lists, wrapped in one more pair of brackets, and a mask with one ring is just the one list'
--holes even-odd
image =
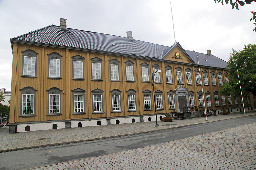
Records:
{"label": "leftmost ground-floor window with arched gray frame and curtains", "polygon": [[21,91],[21,108],[20,115],[21,117],[34,117],[35,106],[36,106],[36,89],[33,87],[24,87],[20,89]]}

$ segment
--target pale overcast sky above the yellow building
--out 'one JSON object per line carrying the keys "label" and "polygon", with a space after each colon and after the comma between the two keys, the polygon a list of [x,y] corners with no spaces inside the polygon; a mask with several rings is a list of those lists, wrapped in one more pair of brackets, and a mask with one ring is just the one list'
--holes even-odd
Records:
{"label": "pale overcast sky above the yellow building", "polygon": [[10,38],[46,27],[68,28],[126,37],[171,46],[176,41],[187,50],[228,61],[232,48],[255,44],[255,27],[249,19],[256,3],[232,9],[214,0],[0,0],[0,88],[11,89]]}

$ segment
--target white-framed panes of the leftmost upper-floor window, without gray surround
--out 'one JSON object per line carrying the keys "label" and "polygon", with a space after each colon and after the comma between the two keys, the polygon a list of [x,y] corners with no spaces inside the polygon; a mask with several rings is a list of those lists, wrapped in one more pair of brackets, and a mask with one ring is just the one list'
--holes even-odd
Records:
{"label": "white-framed panes of the leftmost upper-floor window, without gray surround", "polygon": [[23,75],[35,76],[36,57],[24,56]]}

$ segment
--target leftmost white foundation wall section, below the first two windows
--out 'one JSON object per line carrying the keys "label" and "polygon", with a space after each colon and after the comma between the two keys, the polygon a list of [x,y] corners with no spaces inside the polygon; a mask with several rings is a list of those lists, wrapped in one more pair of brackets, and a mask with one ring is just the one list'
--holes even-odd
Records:
{"label": "leftmost white foundation wall section, below the first two windows", "polygon": [[17,132],[25,132],[25,127],[26,126],[30,126],[30,131],[49,130],[49,129],[52,129],[53,124],[57,125],[57,129],[65,128],[65,122],[28,123],[28,124],[17,125]]}

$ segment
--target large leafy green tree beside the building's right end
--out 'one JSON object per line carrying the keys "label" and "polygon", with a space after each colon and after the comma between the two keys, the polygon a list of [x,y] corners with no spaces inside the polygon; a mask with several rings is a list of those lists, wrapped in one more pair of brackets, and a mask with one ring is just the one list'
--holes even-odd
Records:
{"label": "large leafy green tree beside the building's right end", "polygon": [[234,98],[241,97],[240,86],[237,85],[237,83],[239,84],[238,69],[243,95],[245,95],[245,88],[246,93],[256,96],[256,44],[244,45],[244,49],[241,51],[234,49],[232,51],[233,53],[230,54],[227,64],[227,68],[229,68],[229,82],[222,84],[220,94],[232,94]]}

